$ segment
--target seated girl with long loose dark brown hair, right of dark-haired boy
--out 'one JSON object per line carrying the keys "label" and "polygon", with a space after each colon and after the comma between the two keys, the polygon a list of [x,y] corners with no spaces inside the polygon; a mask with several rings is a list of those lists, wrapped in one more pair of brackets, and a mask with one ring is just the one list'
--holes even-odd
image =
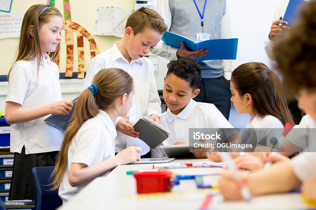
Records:
{"label": "seated girl with long loose dark brown hair, right of dark-haired boy", "polygon": [[[262,168],[268,153],[260,151],[277,151],[275,145],[281,145],[283,142],[275,141],[282,134],[284,124],[294,125],[283,94],[282,83],[266,65],[251,62],[242,64],[234,70],[230,89],[231,101],[234,102],[238,113],[247,113],[251,116],[246,128],[255,130],[258,143],[255,151],[259,152],[245,153],[235,158],[236,166],[247,170]],[[267,147],[261,147],[262,143],[259,142],[262,139],[266,139]]]}

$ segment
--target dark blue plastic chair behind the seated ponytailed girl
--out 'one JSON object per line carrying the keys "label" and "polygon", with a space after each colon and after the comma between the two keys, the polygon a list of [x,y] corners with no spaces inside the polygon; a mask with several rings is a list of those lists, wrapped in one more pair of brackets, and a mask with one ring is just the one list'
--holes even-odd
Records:
{"label": "dark blue plastic chair behind the seated ponytailed girl", "polygon": [[50,190],[52,186],[49,184],[52,183],[54,178],[51,179],[50,177],[54,167],[46,166],[32,169],[37,194],[35,210],[55,210],[63,204],[58,196],[58,190]]}

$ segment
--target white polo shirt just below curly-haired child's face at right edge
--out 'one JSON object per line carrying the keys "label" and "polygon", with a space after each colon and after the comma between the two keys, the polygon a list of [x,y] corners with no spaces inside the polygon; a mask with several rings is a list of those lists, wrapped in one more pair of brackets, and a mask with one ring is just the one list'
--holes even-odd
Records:
{"label": "white polo shirt just below curly-haired child's face at right edge", "polygon": [[288,139],[294,145],[305,149],[305,151],[316,152],[316,124],[313,118],[307,114],[302,117],[299,125],[295,125],[288,133]]}

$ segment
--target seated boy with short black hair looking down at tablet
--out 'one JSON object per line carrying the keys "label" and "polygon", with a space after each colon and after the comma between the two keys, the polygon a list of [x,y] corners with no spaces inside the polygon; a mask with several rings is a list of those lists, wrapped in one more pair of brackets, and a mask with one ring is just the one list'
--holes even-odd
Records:
{"label": "seated boy with short black hair looking down at tablet", "polygon": [[[189,128],[234,128],[214,104],[195,102],[192,98],[199,94],[197,86],[201,71],[197,62],[178,59],[167,71],[163,87],[163,99],[167,112],[161,114],[161,125],[171,131],[171,135],[161,145],[188,144]],[[203,152],[194,152],[199,158],[206,158]],[[158,146],[151,150],[151,157],[165,154]]]}

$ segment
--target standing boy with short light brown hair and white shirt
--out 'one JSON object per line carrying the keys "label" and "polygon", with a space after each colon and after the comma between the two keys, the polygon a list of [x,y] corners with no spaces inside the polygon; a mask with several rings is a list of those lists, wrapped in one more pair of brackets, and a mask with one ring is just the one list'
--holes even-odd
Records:
{"label": "standing boy with short light brown hair and white shirt", "polygon": [[141,147],[141,155],[150,150],[146,143],[137,138],[139,132],[132,125],[143,116],[160,123],[161,100],[155,83],[154,65],[144,56],[156,46],[166,30],[164,20],[155,10],[142,7],[127,19],[124,37],[88,63],[83,90],[91,85],[94,75],[104,68],[123,69],[134,80],[133,106],[126,117],[118,117],[115,121],[116,152],[129,146]]}

